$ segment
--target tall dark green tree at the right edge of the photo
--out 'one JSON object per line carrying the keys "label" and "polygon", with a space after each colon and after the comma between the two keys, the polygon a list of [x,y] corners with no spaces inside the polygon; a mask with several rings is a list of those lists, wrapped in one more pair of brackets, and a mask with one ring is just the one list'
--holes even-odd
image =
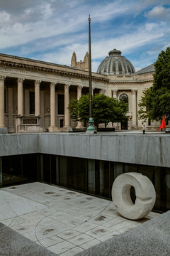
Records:
{"label": "tall dark green tree at the right edge of the photo", "polygon": [[154,63],[153,87],[144,90],[139,103],[140,119],[160,120],[170,115],[170,48],[159,53]]}

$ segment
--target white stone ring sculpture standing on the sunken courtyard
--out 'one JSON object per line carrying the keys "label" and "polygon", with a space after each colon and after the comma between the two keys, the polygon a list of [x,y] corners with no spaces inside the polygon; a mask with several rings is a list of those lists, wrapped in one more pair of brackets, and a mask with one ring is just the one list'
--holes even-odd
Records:
{"label": "white stone ring sculpture standing on the sunken courtyard", "polygon": [[[132,203],[130,188],[135,188],[136,200]],[[139,173],[120,174],[113,182],[112,200],[118,213],[130,220],[144,218],[154,207],[156,193],[152,182]]]}

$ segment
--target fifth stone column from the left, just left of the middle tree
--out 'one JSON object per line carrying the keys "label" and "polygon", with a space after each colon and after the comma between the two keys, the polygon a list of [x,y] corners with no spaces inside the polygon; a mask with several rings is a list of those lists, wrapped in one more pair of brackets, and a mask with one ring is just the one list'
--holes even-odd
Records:
{"label": "fifth stone column from the left, just left of the middle tree", "polygon": [[69,130],[72,130],[72,128],[69,125],[69,86],[70,85],[64,85],[64,130],[69,132]]}

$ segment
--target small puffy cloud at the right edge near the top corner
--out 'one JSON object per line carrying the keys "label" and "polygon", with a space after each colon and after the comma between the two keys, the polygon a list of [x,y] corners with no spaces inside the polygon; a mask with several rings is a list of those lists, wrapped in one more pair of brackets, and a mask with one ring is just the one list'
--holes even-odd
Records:
{"label": "small puffy cloud at the right edge near the top corner", "polygon": [[160,21],[170,21],[170,8],[163,6],[155,6],[151,11],[145,13],[145,17],[151,19],[159,19]]}

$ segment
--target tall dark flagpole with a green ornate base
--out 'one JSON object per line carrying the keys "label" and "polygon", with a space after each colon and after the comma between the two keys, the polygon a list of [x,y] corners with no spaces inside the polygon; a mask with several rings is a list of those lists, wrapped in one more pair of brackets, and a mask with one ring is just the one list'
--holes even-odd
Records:
{"label": "tall dark flagpole with a green ornate base", "polygon": [[92,114],[92,93],[91,93],[91,18],[89,15],[89,127],[86,133],[96,133]]}

